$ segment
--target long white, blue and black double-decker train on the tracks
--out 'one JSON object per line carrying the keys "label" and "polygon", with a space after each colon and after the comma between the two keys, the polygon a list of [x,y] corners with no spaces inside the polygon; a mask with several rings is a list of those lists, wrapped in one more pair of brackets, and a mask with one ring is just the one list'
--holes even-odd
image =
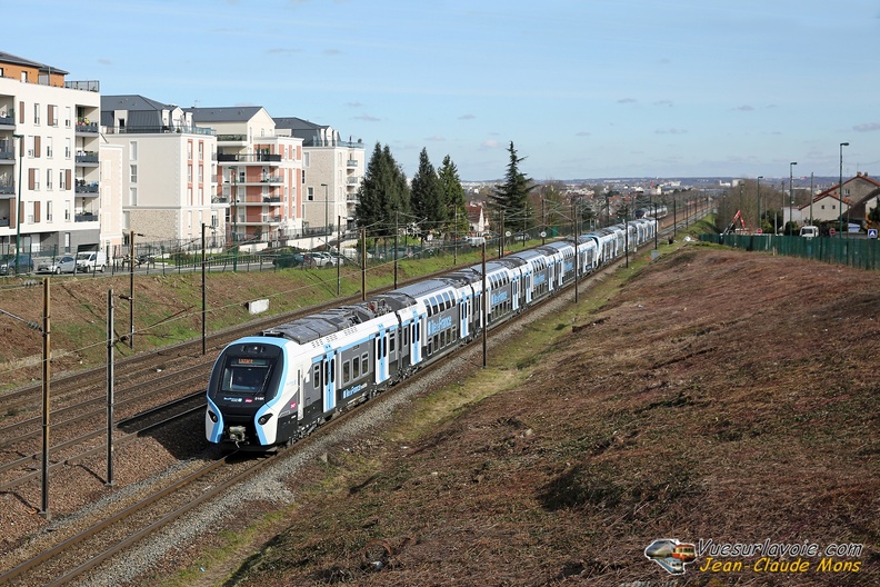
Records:
{"label": "long white, blue and black double-decker train on the tracks", "polygon": [[[633,220],[323,310],[229,344],[214,361],[209,442],[266,450],[403,380],[654,237]],[[577,258],[576,258],[577,257]],[[487,301],[483,317],[483,297]]]}

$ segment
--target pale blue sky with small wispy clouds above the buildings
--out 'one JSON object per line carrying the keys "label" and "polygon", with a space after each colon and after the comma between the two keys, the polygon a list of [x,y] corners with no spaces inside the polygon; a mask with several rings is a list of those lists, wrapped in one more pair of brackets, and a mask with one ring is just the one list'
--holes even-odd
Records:
{"label": "pale blue sky with small wispy clouds above the buildings", "polygon": [[536,180],[880,176],[880,0],[3,4],[0,51],[68,80],[329,125],[410,178],[422,149],[502,178],[511,142]]}

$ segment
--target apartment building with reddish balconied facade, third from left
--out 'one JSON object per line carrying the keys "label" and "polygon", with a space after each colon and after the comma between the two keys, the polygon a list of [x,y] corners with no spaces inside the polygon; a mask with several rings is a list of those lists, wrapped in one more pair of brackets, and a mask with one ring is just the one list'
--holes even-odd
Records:
{"label": "apartment building with reddish balconied facade, third from left", "polygon": [[262,107],[187,108],[217,139],[213,201],[229,241],[282,245],[302,230],[302,139],[279,135]]}

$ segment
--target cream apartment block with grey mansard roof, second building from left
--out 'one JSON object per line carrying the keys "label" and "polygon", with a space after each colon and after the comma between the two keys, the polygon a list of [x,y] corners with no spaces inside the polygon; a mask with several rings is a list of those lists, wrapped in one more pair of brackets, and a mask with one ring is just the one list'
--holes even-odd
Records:
{"label": "cream apartment block with grey mansard roof, second building from left", "polygon": [[[121,149],[121,229],[138,241],[178,246],[201,239],[201,227],[224,241],[229,203],[217,191],[217,138],[192,115],[138,94],[101,97],[106,145]],[[102,147],[103,149],[103,147]],[[102,151],[103,153],[103,151]]]}

